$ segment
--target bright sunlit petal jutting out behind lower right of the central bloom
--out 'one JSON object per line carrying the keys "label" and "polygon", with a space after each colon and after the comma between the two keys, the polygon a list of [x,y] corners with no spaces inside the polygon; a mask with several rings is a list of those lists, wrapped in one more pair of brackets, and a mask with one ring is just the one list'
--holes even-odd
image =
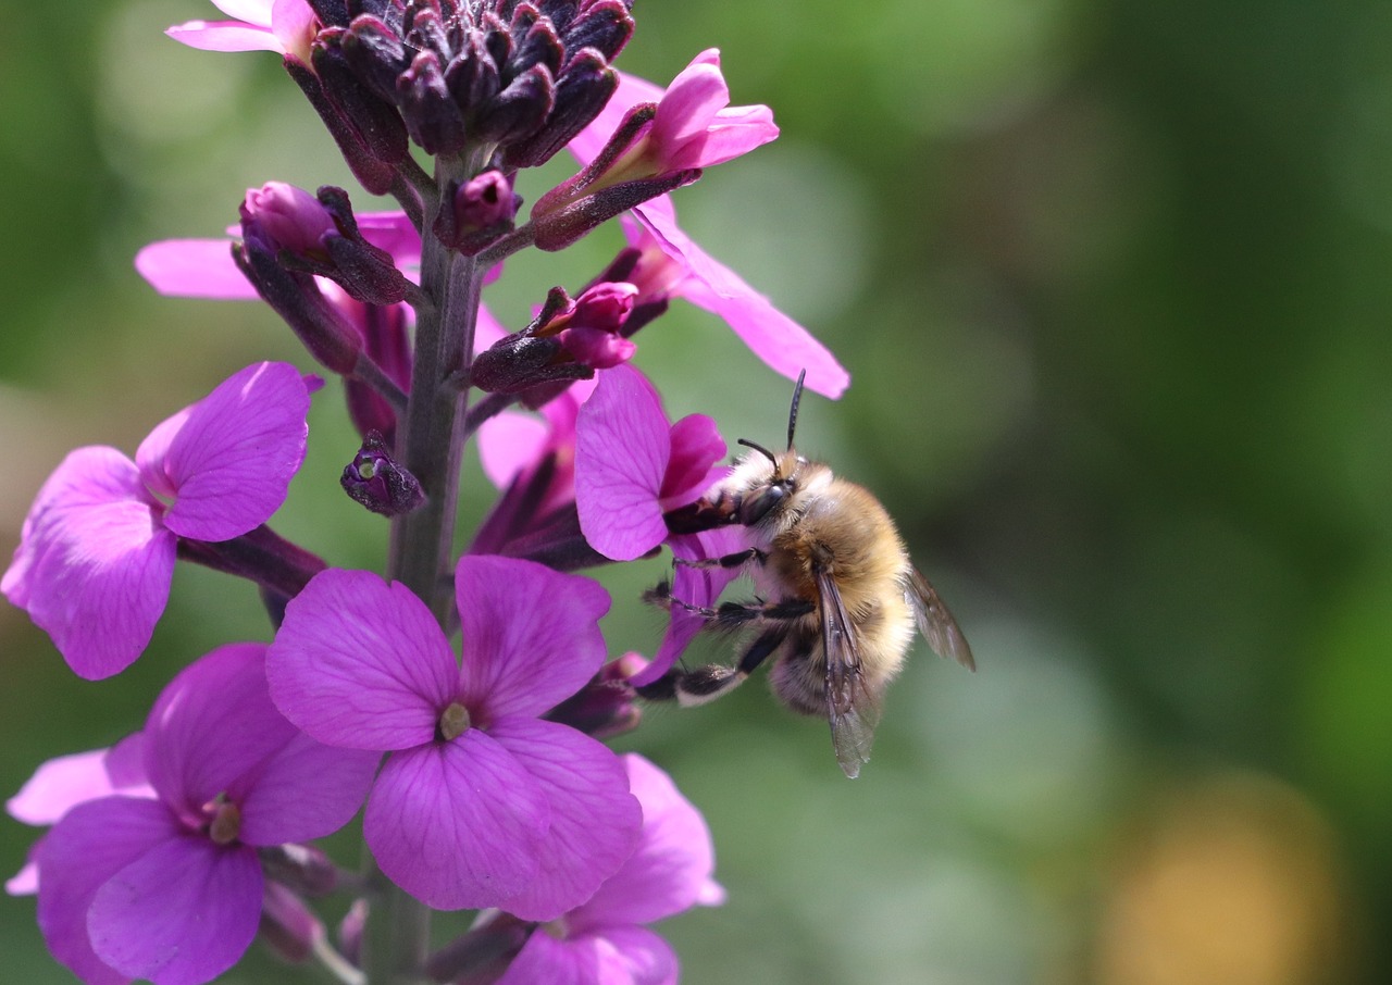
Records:
{"label": "bright sunlit petal jutting out behind lower right of the central bloom", "polygon": [[590,929],[651,924],[693,906],[715,865],[710,829],[671,776],[640,755],[624,757],[629,789],[643,806],[643,832],[624,867],[571,915]]}

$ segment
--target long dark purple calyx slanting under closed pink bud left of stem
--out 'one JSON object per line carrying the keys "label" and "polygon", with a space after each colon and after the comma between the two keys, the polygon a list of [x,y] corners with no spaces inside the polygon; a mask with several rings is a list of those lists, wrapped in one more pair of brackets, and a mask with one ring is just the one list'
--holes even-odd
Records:
{"label": "long dark purple calyx slanting under closed pink bud left of stem", "polygon": [[255,239],[232,245],[232,260],[320,365],[340,374],[358,365],[362,338],[329,303],[315,278],[281,266],[277,253]]}

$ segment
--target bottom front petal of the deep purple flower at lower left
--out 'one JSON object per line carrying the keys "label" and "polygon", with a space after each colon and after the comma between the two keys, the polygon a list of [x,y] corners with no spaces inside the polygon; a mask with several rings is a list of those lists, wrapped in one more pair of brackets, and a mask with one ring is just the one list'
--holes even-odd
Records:
{"label": "bottom front petal of the deep purple flower at lower left", "polygon": [[206,839],[166,840],[113,875],[92,899],[97,957],[156,985],[202,985],[234,964],[260,924],[256,851]]}

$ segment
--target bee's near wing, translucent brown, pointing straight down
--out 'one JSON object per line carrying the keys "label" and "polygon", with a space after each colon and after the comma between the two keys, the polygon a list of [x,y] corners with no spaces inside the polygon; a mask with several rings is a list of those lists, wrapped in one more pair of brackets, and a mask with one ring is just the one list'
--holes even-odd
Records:
{"label": "bee's near wing, translucent brown, pointing straight down", "polygon": [[880,710],[866,689],[860,669],[860,648],[851,616],[841,601],[835,579],[817,570],[817,594],[821,612],[821,648],[827,661],[827,721],[831,746],[837,750],[841,771],[855,779],[860,765],[870,758],[870,743]]}

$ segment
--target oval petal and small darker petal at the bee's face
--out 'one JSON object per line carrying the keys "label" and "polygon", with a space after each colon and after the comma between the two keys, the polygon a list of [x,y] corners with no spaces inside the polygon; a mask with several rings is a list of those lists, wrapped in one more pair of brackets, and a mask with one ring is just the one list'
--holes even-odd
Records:
{"label": "oval petal and small darker petal at the bee's face", "polygon": [[575,505],[585,538],[614,561],[643,556],[668,537],[663,515],[724,476],[715,465],[724,455],[710,417],[670,424],[642,373],[606,370],[576,422]]}

